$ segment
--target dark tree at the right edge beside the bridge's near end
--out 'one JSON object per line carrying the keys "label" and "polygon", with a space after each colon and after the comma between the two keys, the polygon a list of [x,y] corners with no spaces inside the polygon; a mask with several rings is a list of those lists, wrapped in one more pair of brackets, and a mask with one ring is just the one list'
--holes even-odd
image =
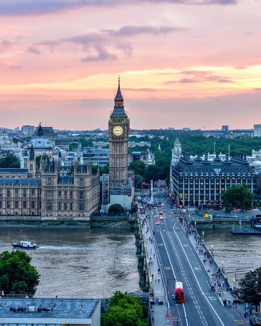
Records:
{"label": "dark tree at the right edge beside the bridge's near end", "polygon": [[261,267],[248,272],[238,281],[240,294],[246,302],[259,304],[261,301]]}

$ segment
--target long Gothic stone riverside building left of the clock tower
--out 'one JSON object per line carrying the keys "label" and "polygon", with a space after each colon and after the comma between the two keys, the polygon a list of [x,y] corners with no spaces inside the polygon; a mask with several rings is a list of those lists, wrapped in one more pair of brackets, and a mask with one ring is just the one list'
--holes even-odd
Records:
{"label": "long Gothic stone riverside building left of the clock tower", "polygon": [[73,175],[60,176],[60,161],[36,164],[31,144],[28,169],[0,169],[0,214],[71,217],[88,221],[100,209],[100,171],[74,162]]}

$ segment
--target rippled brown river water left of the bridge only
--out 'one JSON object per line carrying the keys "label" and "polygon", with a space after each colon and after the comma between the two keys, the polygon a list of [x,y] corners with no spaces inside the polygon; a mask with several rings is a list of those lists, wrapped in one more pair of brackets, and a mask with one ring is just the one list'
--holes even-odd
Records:
{"label": "rippled brown river water left of the bridge only", "polygon": [[[31,263],[41,275],[37,295],[95,295],[106,298],[116,290],[139,290],[135,236],[113,229],[0,229],[0,251],[12,243],[36,242],[28,249]],[[114,268],[114,254],[115,268]]]}

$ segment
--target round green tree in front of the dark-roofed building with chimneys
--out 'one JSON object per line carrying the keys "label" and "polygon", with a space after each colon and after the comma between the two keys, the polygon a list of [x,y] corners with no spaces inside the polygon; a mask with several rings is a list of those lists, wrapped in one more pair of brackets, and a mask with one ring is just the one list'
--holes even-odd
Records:
{"label": "round green tree in front of the dark-roofed building with chimneys", "polygon": [[254,195],[249,190],[248,185],[232,185],[221,195],[226,211],[232,207],[240,207],[241,211],[248,210],[253,206]]}

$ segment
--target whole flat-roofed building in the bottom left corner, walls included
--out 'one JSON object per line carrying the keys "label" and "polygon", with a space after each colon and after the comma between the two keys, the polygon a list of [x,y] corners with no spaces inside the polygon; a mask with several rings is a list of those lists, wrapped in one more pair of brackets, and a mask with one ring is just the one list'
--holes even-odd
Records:
{"label": "whole flat-roofed building in the bottom left corner, walls included", "polygon": [[0,323],[5,326],[100,326],[100,299],[50,297],[4,298],[1,300]]}

